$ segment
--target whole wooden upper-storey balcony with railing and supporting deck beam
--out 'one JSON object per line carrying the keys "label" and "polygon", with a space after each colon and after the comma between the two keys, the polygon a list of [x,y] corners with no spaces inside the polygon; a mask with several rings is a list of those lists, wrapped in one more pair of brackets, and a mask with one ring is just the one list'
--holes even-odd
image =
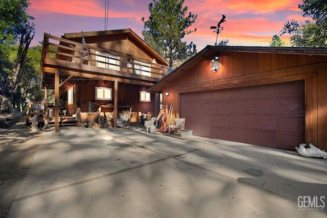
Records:
{"label": "whole wooden upper-storey balcony with railing and supporting deck beam", "polygon": [[[44,34],[41,58],[42,86],[54,89],[54,73],[60,71],[60,88],[71,78],[118,80],[152,86],[167,75],[167,65],[129,54]],[[62,86],[63,85],[63,86]]]}

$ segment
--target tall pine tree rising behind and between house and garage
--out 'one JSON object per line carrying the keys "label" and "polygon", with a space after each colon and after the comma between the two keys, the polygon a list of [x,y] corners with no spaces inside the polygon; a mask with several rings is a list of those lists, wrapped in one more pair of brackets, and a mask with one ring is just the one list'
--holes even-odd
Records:
{"label": "tall pine tree rising behind and between house and garage", "polygon": [[183,3],[184,0],[153,0],[149,4],[149,19],[145,21],[142,17],[145,41],[166,58],[170,66],[197,52],[193,42],[187,45],[181,41],[185,35],[196,31],[188,29],[197,18],[191,12],[185,16],[188,7],[183,7]]}

